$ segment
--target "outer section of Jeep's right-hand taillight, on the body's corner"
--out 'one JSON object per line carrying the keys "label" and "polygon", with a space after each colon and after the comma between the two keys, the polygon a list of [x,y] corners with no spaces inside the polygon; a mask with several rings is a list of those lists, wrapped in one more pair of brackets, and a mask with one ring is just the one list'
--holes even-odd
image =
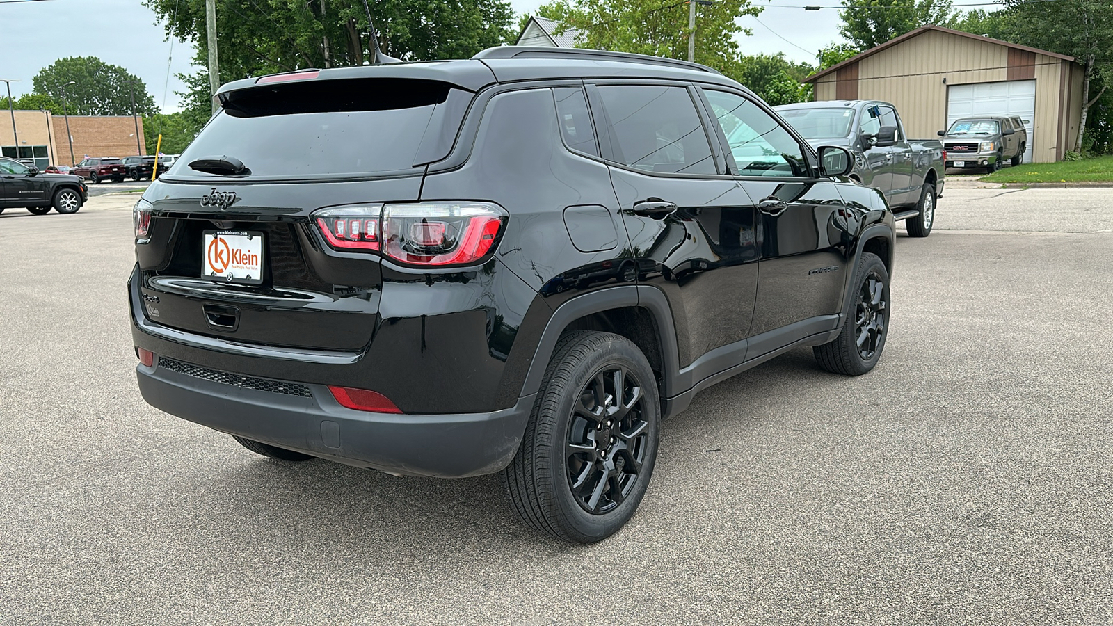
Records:
{"label": "outer section of Jeep's right-hand taillight, on the body's corner", "polygon": [[388,204],[383,253],[407,265],[466,265],[494,250],[505,223],[506,212],[491,203]]}

